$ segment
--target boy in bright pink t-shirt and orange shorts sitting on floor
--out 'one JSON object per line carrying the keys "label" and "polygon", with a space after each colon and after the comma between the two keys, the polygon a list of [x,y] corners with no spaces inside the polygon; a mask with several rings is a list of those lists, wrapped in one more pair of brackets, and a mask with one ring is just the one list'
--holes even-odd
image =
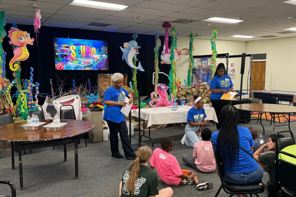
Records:
{"label": "boy in bright pink t-shirt and orange shorts sitting on floor", "polygon": [[192,185],[195,183],[197,190],[210,189],[213,184],[210,182],[200,183],[196,173],[192,170],[181,170],[181,167],[172,154],[168,153],[173,149],[173,140],[170,137],[165,137],[160,141],[161,148],[156,148],[151,157],[150,169],[156,170],[163,182],[168,185]]}

